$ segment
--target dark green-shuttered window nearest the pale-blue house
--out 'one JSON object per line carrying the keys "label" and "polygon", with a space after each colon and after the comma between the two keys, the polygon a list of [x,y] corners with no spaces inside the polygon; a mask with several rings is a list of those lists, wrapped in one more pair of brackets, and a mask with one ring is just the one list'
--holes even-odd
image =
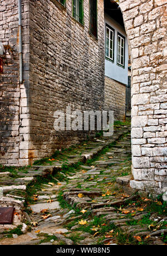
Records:
{"label": "dark green-shuttered window nearest the pale-blue house", "polygon": [[97,38],[97,0],[89,0],[90,34]]}

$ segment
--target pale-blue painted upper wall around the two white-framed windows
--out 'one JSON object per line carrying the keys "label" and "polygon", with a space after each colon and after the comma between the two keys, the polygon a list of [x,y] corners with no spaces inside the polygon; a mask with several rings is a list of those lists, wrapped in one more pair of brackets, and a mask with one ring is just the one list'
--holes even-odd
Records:
{"label": "pale-blue painted upper wall around the two white-framed windows", "polygon": [[[105,59],[105,75],[120,83],[128,83],[128,43],[124,27],[113,20],[109,15],[105,13],[105,29],[106,23],[115,30],[115,41],[114,41],[114,63],[110,60]],[[117,32],[122,36],[125,36],[125,68],[117,65]]]}

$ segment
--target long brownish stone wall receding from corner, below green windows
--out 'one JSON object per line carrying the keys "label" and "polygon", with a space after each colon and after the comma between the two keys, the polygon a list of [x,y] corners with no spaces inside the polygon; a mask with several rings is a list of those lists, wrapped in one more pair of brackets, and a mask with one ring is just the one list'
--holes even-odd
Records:
{"label": "long brownish stone wall receding from corner, below green windows", "polygon": [[[72,1],[30,0],[30,143],[28,159],[76,144],[83,131],[53,129],[57,110],[102,110],[104,106],[104,1],[98,0],[98,39],[72,17]],[[25,145],[27,146],[27,145]]]}

